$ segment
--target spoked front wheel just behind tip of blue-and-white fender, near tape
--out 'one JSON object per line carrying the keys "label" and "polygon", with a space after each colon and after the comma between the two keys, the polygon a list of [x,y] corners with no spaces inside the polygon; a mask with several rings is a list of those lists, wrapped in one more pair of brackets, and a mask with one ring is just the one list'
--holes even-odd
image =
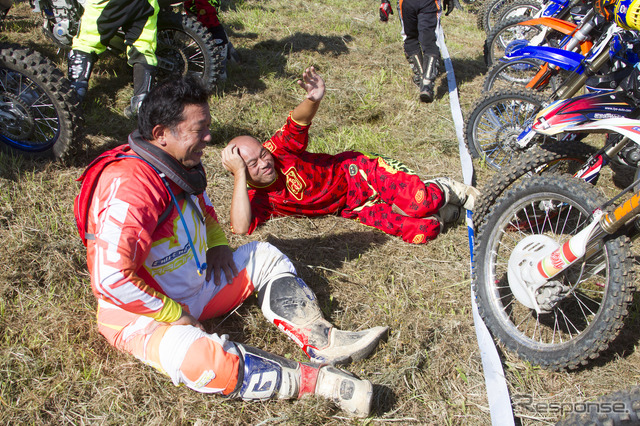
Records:
{"label": "spoked front wheel just behind tip of blue-and-white fender, near tape", "polygon": [[527,90],[498,90],[480,98],[465,122],[469,153],[500,170],[521,150],[518,136],[533,122],[546,98]]}

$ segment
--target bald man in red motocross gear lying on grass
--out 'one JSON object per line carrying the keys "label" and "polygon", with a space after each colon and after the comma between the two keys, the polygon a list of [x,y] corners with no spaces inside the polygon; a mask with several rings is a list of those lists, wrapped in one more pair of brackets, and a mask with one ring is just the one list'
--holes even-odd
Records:
{"label": "bald man in red motocross gear lying on grass", "polygon": [[234,233],[250,234],[272,216],[338,213],[408,243],[424,244],[445,223],[456,222],[462,208],[473,210],[478,190],[452,179],[423,182],[361,152],[307,152],[309,126],[325,86],[313,67],[298,84],[307,95],[271,139],[261,144],[239,136],[222,151],[222,164],[234,176]]}

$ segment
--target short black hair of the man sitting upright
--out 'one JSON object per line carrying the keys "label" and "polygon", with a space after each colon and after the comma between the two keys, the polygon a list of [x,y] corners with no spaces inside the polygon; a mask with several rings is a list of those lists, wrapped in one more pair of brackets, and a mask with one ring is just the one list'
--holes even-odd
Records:
{"label": "short black hair of the man sitting upright", "polygon": [[153,139],[153,128],[158,124],[170,129],[184,120],[186,105],[208,104],[209,92],[202,80],[194,76],[169,78],[157,83],[145,96],[138,110],[138,130],[146,140]]}

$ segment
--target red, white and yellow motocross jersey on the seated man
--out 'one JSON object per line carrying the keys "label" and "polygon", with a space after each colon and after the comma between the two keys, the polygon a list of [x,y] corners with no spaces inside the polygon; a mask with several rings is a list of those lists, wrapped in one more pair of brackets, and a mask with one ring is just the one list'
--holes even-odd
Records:
{"label": "red, white and yellow motocross jersey on the seated man", "polygon": [[[182,190],[171,182],[171,190]],[[178,201],[200,263],[208,248],[227,245],[206,193]],[[198,305],[205,276],[199,275],[185,227],[158,174],[143,161],[122,159],[100,175],[89,211],[87,245],[91,286],[99,300],[126,311],[172,322],[182,307]],[[197,211],[196,211],[197,209]],[[196,318],[199,313],[192,312]]]}

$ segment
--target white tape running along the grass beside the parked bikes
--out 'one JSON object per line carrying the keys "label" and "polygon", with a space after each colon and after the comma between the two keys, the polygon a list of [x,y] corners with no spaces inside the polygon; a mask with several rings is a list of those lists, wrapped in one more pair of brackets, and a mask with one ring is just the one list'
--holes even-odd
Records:
{"label": "white tape running along the grass beside the parked bikes", "polygon": [[[471,155],[464,144],[462,133],[463,119],[460,110],[460,99],[458,98],[458,87],[456,85],[456,77],[453,73],[453,65],[449,57],[447,45],[444,42],[444,32],[438,19],[438,28],[436,30],[438,46],[440,54],[447,70],[447,83],[449,85],[449,102],[451,104],[451,115],[458,137],[458,149],[460,151],[460,164],[462,166],[462,177],[464,183],[472,185],[474,180],[473,162]],[[470,269],[473,268],[473,221],[471,220],[471,212],[467,211],[466,217],[467,229],[469,231],[469,251],[471,253]],[[502,369],[500,355],[496,349],[493,338],[487,329],[484,321],[478,313],[476,299],[471,291],[471,306],[473,311],[473,324],[476,329],[476,338],[478,339],[478,347],[480,348],[480,356],[482,358],[482,368],[484,370],[484,382],[487,388],[487,398],[489,400],[489,411],[491,412],[491,424],[494,426],[514,425],[513,409],[511,408],[511,398],[509,397],[509,389],[507,381]]]}

